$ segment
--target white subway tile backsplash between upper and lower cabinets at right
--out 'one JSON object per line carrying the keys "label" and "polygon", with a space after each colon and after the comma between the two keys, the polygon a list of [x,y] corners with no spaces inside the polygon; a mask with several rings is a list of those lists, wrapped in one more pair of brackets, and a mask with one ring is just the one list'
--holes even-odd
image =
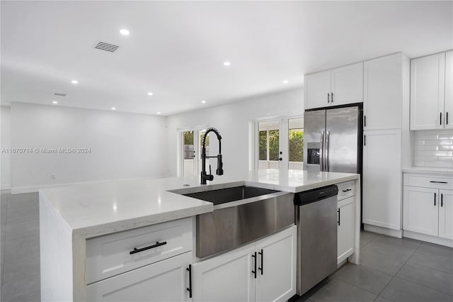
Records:
{"label": "white subway tile backsplash between upper and lower cabinets at right", "polygon": [[453,168],[453,130],[414,131],[415,167]]}

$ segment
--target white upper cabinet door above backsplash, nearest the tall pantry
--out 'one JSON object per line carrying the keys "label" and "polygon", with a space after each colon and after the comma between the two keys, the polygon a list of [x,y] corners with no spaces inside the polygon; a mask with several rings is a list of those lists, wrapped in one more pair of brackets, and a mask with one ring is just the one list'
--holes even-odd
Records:
{"label": "white upper cabinet door above backsplash, nearest the tall pantry", "polygon": [[411,61],[411,130],[444,128],[445,52]]}

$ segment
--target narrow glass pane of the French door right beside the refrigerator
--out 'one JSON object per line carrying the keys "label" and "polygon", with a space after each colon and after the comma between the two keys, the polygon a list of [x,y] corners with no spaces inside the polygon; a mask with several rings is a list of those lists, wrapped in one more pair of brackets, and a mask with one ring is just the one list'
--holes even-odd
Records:
{"label": "narrow glass pane of the French door right beside the refrigerator", "polygon": [[288,128],[289,169],[302,170],[304,164],[304,119],[289,119]]}

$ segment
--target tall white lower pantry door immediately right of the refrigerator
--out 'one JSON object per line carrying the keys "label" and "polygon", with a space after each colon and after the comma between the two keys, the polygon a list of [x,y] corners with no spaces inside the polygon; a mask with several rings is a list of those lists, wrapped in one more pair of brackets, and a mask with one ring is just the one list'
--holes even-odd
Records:
{"label": "tall white lower pantry door immediately right of the refrigerator", "polygon": [[363,147],[363,223],[401,230],[401,130],[368,130]]}

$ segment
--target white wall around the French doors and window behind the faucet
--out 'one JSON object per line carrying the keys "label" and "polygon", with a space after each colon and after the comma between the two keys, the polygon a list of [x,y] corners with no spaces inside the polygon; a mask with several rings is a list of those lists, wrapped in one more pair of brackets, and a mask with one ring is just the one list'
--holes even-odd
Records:
{"label": "white wall around the French doors and window behind the faucet", "polygon": [[[199,125],[217,128],[222,135],[225,174],[247,172],[249,121],[297,114],[302,116],[303,95],[302,89],[296,89],[168,116],[168,174],[176,176],[177,173],[178,130]],[[210,148],[214,145],[217,146],[217,140],[210,139]],[[213,161],[213,164],[214,171],[217,162]]]}

